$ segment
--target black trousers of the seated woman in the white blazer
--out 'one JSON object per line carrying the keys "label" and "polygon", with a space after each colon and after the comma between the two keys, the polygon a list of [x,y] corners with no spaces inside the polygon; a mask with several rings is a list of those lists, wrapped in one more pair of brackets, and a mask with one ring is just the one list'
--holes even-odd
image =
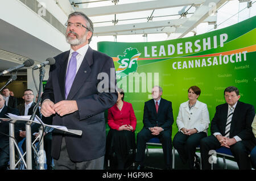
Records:
{"label": "black trousers of the seated woman in the white blazer", "polygon": [[181,161],[184,164],[189,163],[189,169],[194,167],[196,147],[199,146],[200,140],[204,137],[207,137],[205,132],[191,134],[190,136],[177,132],[174,136],[172,144],[178,151]]}

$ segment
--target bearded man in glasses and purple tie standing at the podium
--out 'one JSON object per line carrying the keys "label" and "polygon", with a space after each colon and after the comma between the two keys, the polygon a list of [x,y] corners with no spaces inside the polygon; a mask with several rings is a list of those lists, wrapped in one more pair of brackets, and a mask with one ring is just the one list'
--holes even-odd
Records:
{"label": "bearded man in glasses and purple tie standing at the podium", "polygon": [[[93,23],[82,12],[68,16],[66,40],[71,49],[55,57],[42,95],[42,114],[53,115],[53,125],[82,131],[82,136],[52,134],[55,169],[103,169],[104,111],[117,101],[111,57],[89,47]],[[98,75],[105,75],[102,85]],[[112,75],[112,77],[113,77]]]}

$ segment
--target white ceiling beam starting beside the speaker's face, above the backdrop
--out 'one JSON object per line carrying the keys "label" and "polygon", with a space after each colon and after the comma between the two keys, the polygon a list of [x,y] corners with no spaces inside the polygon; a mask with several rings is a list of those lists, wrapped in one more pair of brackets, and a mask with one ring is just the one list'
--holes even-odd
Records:
{"label": "white ceiling beam starting beside the speaker's face, above the backdrop", "polygon": [[117,32],[129,32],[137,30],[147,30],[152,28],[163,28],[163,27],[177,27],[186,22],[186,18],[182,19],[172,19],[172,20],[163,20],[156,22],[145,22],[145,23],[133,23],[133,24],[120,24],[115,26],[104,26],[104,27],[94,27],[93,34],[96,36],[103,36],[108,33],[117,33]]}

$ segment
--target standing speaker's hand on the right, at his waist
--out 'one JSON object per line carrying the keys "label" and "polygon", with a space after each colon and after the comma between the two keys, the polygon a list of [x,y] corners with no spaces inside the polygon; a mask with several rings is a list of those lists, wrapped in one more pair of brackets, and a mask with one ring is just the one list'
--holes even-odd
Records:
{"label": "standing speaker's hand on the right, at his waist", "polygon": [[60,116],[68,115],[78,110],[76,100],[61,100],[53,105],[53,110]]}

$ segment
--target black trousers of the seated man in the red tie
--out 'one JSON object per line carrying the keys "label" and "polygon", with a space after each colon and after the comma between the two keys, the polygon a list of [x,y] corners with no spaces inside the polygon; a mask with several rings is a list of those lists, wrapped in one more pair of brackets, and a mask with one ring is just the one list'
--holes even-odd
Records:
{"label": "black trousers of the seated man in the red tie", "polygon": [[164,163],[167,168],[171,168],[172,163],[172,132],[171,130],[164,130],[154,136],[148,128],[143,128],[141,132],[137,134],[137,153],[135,161],[142,166],[144,165],[144,155],[146,149],[146,142],[153,137],[158,137],[163,146]]}

